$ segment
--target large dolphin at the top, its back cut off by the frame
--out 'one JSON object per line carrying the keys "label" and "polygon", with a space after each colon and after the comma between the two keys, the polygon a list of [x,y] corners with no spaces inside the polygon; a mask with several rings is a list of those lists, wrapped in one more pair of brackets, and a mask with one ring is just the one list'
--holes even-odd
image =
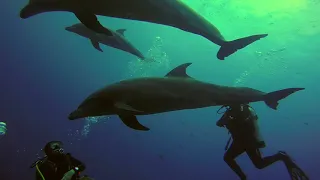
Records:
{"label": "large dolphin at the top, its back cut off by the frame", "polygon": [[96,15],[176,27],[221,46],[217,54],[220,60],[267,36],[259,34],[227,41],[214,25],[180,0],[30,0],[20,11],[20,17],[52,11],[72,12],[86,27],[108,36],[112,32],[100,24]]}

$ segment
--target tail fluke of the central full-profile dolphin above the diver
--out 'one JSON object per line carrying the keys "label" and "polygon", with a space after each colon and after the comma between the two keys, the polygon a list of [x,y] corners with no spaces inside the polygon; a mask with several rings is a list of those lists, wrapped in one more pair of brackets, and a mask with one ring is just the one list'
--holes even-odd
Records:
{"label": "tail fluke of the central full-profile dolphin above the diver", "polygon": [[279,105],[278,101],[288,97],[289,95],[291,95],[297,91],[301,91],[304,89],[305,88],[288,88],[288,89],[282,89],[279,91],[274,91],[274,92],[268,93],[265,95],[265,103],[270,108],[277,110],[278,105]]}

